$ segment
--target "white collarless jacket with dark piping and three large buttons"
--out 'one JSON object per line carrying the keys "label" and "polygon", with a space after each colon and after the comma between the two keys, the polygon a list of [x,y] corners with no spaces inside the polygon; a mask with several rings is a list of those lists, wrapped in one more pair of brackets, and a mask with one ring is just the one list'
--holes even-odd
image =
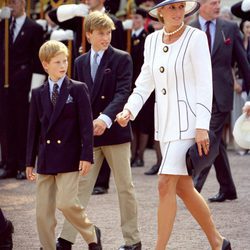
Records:
{"label": "white collarless jacket with dark piping and three large buttons", "polygon": [[187,26],[172,44],[163,31],[146,38],[144,64],[124,108],[133,118],[155,89],[155,139],[163,142],[195,137],[209,130],[212,106],[212,68],[206,34]]}

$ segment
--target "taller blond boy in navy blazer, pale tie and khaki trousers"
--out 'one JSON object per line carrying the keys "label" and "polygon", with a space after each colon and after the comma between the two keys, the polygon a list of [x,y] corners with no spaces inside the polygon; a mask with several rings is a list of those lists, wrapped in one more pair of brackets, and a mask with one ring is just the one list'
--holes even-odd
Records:
{"label": "taller blond boy in navy blazer, pale tie and khaki trousers", "polygon": [[[87,206],[104,157],[118,193],[121,229],[125,245],[119,249],[141,250],[137,225],[137,202],[130,168],[130,127],[121,128],[116,113],[126,103],[132,82],[132,60],[127,52],[110,46],[114,23],[110,17],[94,11],[85,18],[86,36],[91,49],[75,61],[76,78],[86,82],[90,91],[94,127],[95,164],[79,182],[79,199]],[[58,244],[64,239],[75,242],[77,231],[64,223]]]}

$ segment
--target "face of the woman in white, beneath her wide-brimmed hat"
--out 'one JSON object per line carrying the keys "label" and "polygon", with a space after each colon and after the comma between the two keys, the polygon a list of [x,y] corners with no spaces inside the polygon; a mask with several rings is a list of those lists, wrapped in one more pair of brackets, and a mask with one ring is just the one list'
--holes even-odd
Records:
{"label": "face of the woman in white, beneath her wide-brimmed hat", "polygon": [[180,25],[184,20],[185,2],[168,4],[159,9],[159,15],[163,18],[164,24],[173,26]]}

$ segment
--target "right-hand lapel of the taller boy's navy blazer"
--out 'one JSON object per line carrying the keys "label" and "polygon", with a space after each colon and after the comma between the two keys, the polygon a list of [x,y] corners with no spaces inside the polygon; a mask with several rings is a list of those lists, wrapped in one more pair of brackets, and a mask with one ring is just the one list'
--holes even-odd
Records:
{"label": "right-hand lapel of the taller boy's navy blazer", "polygon": [[109,48],[104,52],[102,56],[101,62],[99,64],[99,67],[97,69],[96,76],[95,76],[95,81],[94,81],[94,86],[93,86],[95,91],[92,91],[92,103],[94,102],[95,97],[98,94],[100,87],[102,86],[103,76],[105,74],[105,69],[107,68],[112,51],[113,51],[113,48],[109,46]]}

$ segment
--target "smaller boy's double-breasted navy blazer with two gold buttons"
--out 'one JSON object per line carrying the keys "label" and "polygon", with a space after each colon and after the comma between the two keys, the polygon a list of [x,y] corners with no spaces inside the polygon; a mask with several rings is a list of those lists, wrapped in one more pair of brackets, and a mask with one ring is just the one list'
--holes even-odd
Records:
{"label": "smaller boy's double-breasted navy blazer with two gold buttons", "polygon": [[93,119],[87,86],[65,77],[53,110],[49,83],[32,91],[27,166],[37,173],[78,171],[79,161],[93,163]]}

